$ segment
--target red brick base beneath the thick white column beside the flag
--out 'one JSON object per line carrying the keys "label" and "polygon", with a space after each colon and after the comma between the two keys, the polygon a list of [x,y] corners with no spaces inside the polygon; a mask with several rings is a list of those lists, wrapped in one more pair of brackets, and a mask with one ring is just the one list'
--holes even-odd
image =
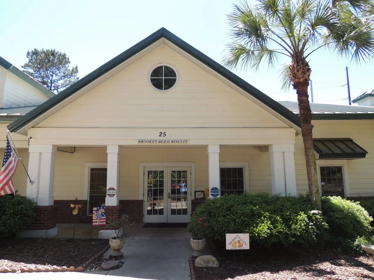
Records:
{"label": "red brick base beneath the thick white column beside the flag", "polygon": [[30,230],[49,230],[56,227],[57,205],[36,206],[36,217]]}

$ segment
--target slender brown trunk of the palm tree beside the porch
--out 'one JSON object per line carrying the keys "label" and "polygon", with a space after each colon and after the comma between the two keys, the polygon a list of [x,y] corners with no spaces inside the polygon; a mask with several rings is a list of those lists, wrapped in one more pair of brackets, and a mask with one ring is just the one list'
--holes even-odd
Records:
{"label": "slender brown trunk of the palm tree beside the porch", "polygon": [[304,142],[305,163],[310,199],[313,203],[317,204],[317,209],[321,211],[321,196],[319,194],[317,164],[313,149],[312,112],[309,105],[308,86],[309,82],[307,81],[294,84],[299,106],[301,135],[303,136]]}

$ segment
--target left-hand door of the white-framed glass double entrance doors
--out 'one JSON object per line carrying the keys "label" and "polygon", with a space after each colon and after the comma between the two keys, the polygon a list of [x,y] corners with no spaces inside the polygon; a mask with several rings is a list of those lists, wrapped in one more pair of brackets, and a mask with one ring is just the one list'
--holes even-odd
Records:
{"label": "left-hand door of the white-framed glass double entrance doors", "polygon": [[166,168],[144,169],[144,223],[166,223],[166,201],[164,205]]}

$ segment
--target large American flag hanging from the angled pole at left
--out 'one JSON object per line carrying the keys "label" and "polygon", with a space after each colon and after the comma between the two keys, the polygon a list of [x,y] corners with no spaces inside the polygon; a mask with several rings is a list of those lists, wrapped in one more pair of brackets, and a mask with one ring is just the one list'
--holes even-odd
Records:
{"label": "large American flag hanging from the angled pole at left", "polygon": [[18,157],[10,146],[8,136],[6,136],[6,146],[3,160],[3,167],[0,172],[0,196],[14,193],[12,177],[17,169]]}

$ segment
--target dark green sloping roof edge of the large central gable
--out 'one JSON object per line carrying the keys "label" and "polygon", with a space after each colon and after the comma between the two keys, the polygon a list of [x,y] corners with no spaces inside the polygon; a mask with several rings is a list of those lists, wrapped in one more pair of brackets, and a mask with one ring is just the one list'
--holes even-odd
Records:
{"label": "dark green sloping roof edge of the large central gable", "polygon": [[230,82],[234,83],[238,87],[242,88],[242,90],[246,91],[251,96],[255,97],[257,100],[271,108],[272,110],[278,112],[281,116],[288,119],[293,124],[301,127],[300,119],[297,115],[286,109],[284,106],[258,90],[257,88],[253,87],[243,79],[239,78],[233,72],[229,71],[228,69],[224,68],[219,63],[215,62],[213,59],[209,58],[208,56],[204,55],[199,50],[192,47],[190,44],[187,44],[185,41],[181,40],[179,37],[171,33],[165,28],[160,28],[153,34],[149,35],[147,38],[143,39],[139,43],[135,44],[125,52],[121,53],[120,55],[114,57],[113,59],[109,60],[104,65],[97,68],[95,71],[91,72],[90,74],[86,75],[76,83],[72,84],[70,87],[66,88],[65,90],[61,91],[59,94],[56,94],[51,99],[47,100],[43,104],[39,105],[36,109],[32,110],[31,112],[27,113],[25,116],[22,116],[12,124],[8,125],[8,129],[10,131],[18,131],[43,113],[47,112],[48,110],[52,109],[54,106],[62,102],[63,100],[67,99],[74,93],[76,93],[81,88],[85,87],[86,85],[92,83],[97,78],[101,77],[114,67],[118,66],[119,64],[125,62],[130,57],[134,56],[141,50],[145,49],[146,47],[150,46],[151,44],[155,43],[157,40],[161,38],[165,38],[175,46],[179,47],[180,49],[187,52],[189,55],[193,56],[200,62],[204,63],[206,66],[217,72],[218,74],[222,75],[224,78],[229,80]]}

